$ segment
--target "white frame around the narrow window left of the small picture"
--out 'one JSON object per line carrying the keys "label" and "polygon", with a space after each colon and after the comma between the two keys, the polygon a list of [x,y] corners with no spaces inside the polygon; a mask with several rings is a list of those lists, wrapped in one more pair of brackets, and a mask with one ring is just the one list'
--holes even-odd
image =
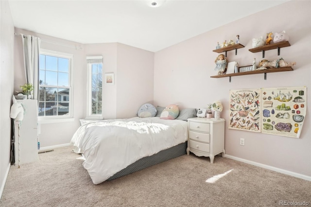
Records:
{"label": "white frame around the narrow window left of the small picture", "polygon": [[[102,59],[102,62],[92,63],[91,59]],[[102,114],[92,114],[92,65],[93,64],[102,64],[102,80],[104,80],[104,64],[103,56],[87,56],[86,57],[86,70],[87,70],[87,90],[86,90],[86,119],[103,119],[103,100],[102,100]],[[104,84],[102,83],[102,97]]]}

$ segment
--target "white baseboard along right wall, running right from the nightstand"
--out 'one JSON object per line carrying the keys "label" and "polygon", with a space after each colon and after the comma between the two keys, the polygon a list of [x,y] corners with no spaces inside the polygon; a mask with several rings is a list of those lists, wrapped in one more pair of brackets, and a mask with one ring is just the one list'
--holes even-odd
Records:
{"label": "white baseboard along right wall, running right from the nightstand", "polygon": [[287,171],[287,170],[284,170],[284,169],[276,168],[276,167],[273,167],[273,166],[270,166],[270,165],[261,164],[261,163],[250,161],[250,160],[247,160],[247,159],[242,159],[240,157],[236,157],[236,156],[232,156],[232,155],[226,155],[225,154],[225,157],[227,157],[229,159],[234,159],[234,160],[237,160],[237,161],[241,161],[241,162],[244,162],[244,163],[247,163],[247,164],[250,164],[250,165],[255,165],[255,166],[260,167],[260,168],[265,168],[265,169],[272,170],[272,171],[275,171],[275,172],[278,172],[278,173],[283,173],[283,174],[287,174],[287,175],[298,177],[298,178],[301,178],[301,179],[304,179],[304,180],[311,181],[311,176],[308,176],[308,175],[294,173],[292,171]]}

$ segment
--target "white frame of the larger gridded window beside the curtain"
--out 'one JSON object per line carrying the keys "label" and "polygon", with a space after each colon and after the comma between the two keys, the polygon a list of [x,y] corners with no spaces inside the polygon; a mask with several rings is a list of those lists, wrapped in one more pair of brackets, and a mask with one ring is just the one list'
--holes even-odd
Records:
{"label": "white frame of the larger gridded window beside the curtain", "polygon": [[[39,116],[38,115],[38,121],[39,123],[55,123],[55,122],[64,122],[64,121],[74,121],[73,118],[73,54],[64,53],[64,52],[56,52],[51,50],[45,50],[40,49],[39,54],[48,55],[48,56],[54,56],[58,58],[66,58],[69,59],[69,86],[58,86],[59,88],[69,88],[69,101],[66,101],[66,103],[69,103],[69,115],[68,116]],[[38,73],[40,72],[40,69],[38,69]],[[40,76],[38,74],[38,82],[40,81]],[[52,85],[40,85],[38,84],[38,87],[54,87]],[[38,93],[39,93],[38,88]],[[62,100],[61,100],[62,101]],[[38,108],[39,109],[39,94],[38,94]],[[39,110],[38,110],[39,114]]]}

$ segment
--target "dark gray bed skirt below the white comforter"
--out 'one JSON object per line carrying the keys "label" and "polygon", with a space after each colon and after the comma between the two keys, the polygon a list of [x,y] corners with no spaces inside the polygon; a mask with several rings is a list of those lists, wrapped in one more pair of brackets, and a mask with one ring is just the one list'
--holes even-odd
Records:
{"label": "dark gray bed skirt below the white comforter", "polygon": [[165,162],[167,160],[176,158],[178,156],[186,155],[187,154],[186,149],[187,149],[187,141],[184,143],[178,144],[174,147],[171,147],[169,149],[162,150],[155,155],[143,157],[137,160],[136,162],[134,162],[133,164],[127,166],[120,172],[112,175],[107,180],[113,180],[118,177],[130,174],[130,173],[134,173],[142,169],[148,168],[150,166],[159,164],[161,162]]}

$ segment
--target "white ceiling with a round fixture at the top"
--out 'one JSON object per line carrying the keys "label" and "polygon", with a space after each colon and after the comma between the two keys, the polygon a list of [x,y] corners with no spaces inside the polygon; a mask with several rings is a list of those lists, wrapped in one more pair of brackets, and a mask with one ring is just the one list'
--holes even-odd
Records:
{"label": "white ceiling with a round fixture at the top", "polygon": [[20,29],[83,44],[119,42],[157,52],[286,1],[9,0],[9,5]]}

